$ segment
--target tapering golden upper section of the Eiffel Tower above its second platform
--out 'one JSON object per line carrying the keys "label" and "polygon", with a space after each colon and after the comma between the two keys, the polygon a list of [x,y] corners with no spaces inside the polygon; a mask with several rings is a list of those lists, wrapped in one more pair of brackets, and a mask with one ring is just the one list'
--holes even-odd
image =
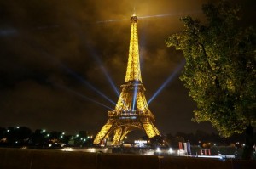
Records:
{"label": "tapering golden upper section of the Eiffel Tower above its second platform", "polygon": [[140,69],[140,56],[138,49],[138,37],[137,37],[137,16],[133,14],[131,16],[131,39],[129,47],[129,58],[126,70],[125,82],[138,81],[142,82],[142,75]]}

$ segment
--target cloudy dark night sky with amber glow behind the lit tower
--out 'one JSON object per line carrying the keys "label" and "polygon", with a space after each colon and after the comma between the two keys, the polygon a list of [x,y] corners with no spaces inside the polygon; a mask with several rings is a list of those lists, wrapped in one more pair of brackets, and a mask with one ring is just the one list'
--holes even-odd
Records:
{"label": "cloudy dark night sky with amber glow behind the lit tower", "polygon": [[[133,7],[141,17],[149,100],[183,63],[181,52],[166,47],[166,37],[183,29],[181,16],[201,18],[206,2],[0,0],[0,127],[96,134],[115,106],[105,98],[119,98],[108,79],[119,91],[125,82]],[[195,103],[178,75],[148,105],[156,127],[162,134],[214,132],[209,123],[191,121]]]}

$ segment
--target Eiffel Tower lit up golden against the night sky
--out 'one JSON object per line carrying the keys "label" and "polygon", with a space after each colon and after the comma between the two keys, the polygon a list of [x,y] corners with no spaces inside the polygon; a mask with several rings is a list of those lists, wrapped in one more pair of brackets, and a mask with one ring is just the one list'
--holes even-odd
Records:
{"label": "Eiffel Tower lit up golden against the night sky", "polygon": [[97,133],[94,144],[102,144],[113,135],[112,145],[122,144],[125,136],[134,130],[143,130],[148,138],[160,135],[154,126],[154,115],[148,109],[143,86],[137,36],[137,15],[131,16],[131,39],[125,83],[113,111],[108,111],[108,121]]}

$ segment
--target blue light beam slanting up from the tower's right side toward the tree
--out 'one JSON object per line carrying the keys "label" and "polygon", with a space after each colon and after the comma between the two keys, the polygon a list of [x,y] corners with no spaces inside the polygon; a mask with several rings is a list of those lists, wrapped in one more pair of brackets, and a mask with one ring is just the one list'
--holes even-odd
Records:
{"label": "blue light beam slanting up from the tower's right side toward the tree", "polygon": [[174,79],[174,77],[177,76],[177,73],[182,70],[183,65],[185,64],[185,60],[183,60],[183,62],[177,66],[177,68],[172,72],[172,74],[166,79],[166,81],[159,87],[159,89],[157,89],[157,91],[154,93],[154,95],[148,100],[148,104],[150,104],[158,95],[159,93],[163,90],[164,87],[166,87],[166,85],[169,82],[172,82],[172,80]]}

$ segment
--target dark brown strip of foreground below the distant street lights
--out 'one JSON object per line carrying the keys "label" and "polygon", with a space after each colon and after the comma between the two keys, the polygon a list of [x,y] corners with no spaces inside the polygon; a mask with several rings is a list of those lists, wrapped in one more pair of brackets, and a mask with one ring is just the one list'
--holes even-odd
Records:
{"label": "dark brown strip of foreground below the distant street lights", "polygon": [[256,161],[0,149],[0,169],[256,169]]}

